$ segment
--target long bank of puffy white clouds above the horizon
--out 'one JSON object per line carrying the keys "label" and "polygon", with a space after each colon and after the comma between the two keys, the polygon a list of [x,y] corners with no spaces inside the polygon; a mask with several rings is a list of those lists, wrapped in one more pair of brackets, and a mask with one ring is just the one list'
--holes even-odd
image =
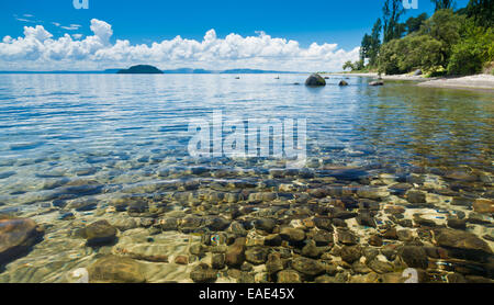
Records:
{"label": "long bank of puffy white clouds above the horizon", "polygon": [[246,37],[232,33],[221,38],[210,30],[202,42],[177,36],[132,45],[127,39],[112,43],[112,26],[104,21],[92,19],[90,29],[91,36],[64,34],[55,38],[42,25],[24,26],[23,37],[5,36],[0,43],[0,70],[91,70],[149,64],[160,69],[337,71],[345,61],[359,57],[359,47],[345,50],[337,44],[313,43],[303,48],[296,41],[265,32]]}

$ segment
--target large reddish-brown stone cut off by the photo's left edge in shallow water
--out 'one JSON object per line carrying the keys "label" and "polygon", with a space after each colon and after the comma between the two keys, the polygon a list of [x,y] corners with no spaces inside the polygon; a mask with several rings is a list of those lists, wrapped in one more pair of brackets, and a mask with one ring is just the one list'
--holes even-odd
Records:
{"label": "large reddish-brown stone cut off by the photo's left edge in shallow water", "polygon": [[30,218],[0,219],[0,266],[10,262],[41,241],[43,229]]}

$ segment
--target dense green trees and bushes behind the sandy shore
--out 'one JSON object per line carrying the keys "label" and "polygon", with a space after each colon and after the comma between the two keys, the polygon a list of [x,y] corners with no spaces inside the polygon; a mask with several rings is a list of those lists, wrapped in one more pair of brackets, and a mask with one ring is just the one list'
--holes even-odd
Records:
{"label": "dense green trees and bushes behind the sandy shore", "polygon": [[[436,12],[400,23],[401,0],[385,0],[383,18],[366,34],[360,60],[344,69],[386,75],[422,69],[428,76],[471,75],[494,64],[494,0],[470,0],[453,11],[454,1],[433,0]],[[381,43],[381,35],[382,43]]]}

